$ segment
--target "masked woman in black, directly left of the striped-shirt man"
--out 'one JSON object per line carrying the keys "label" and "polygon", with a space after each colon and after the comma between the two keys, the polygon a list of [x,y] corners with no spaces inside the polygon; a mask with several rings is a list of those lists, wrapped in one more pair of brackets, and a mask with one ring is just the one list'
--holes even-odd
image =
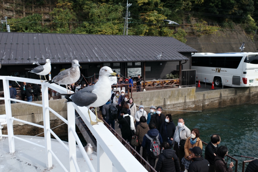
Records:
{"label": "masked woman in black, directly left of the striped-shirt man", "polygon": [[171,114],[166,115],[165,121],[161,124],[159,133],[162,140],[168,142],[170,148],[172,148],[172,140],[175,134],[176,126],[172,120]]}

